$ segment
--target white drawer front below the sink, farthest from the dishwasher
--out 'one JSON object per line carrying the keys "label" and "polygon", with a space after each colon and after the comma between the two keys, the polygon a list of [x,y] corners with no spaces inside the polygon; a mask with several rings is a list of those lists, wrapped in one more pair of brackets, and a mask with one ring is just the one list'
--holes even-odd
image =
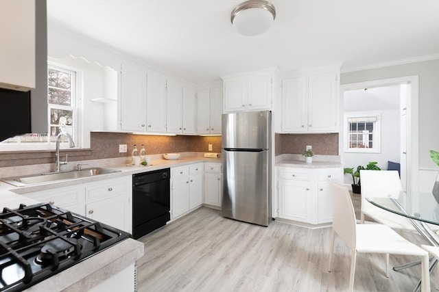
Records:
{"label": "white drawer front below the sink, farthest from the dishwasher", "polygon": [[23,194],[27,198],[38,202],[54,204],[58,207],[65,207],[69,204],[84,202],[84,187],[61,187],[59,189],[51,189],[48,191],[37,191],[32,194]]}

